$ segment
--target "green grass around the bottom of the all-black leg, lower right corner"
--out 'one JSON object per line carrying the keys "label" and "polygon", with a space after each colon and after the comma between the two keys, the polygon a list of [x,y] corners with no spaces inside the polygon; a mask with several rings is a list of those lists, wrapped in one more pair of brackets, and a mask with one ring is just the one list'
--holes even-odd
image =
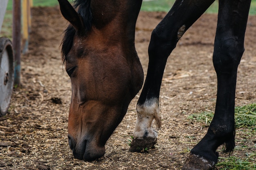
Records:
{"label": "green grass around the bottom of the all-black leg, lower right corner", "polygon": [[[213,119],[214,113],[204,111],[202,113],[193,114],[188,117],[190,120],[203,122],[209,126]],[[247,146],[249,140],[254,140],[256,136],[256,103],[235,108],[236,131],[239,133],[240,139],[236,139],[239,146],[234,148],[237,150],[248,150],[245,156],[231,156],[227,158],[220,157],[216,167],[219,170],[252,170],[256,169],[256,144]],[[253,141],[252,141],[253,142]],[[249,142],[251,143],[251,142]],[[255,143],[255,142],[254,142]],[[218,150],[221,151],[221,150]]]}

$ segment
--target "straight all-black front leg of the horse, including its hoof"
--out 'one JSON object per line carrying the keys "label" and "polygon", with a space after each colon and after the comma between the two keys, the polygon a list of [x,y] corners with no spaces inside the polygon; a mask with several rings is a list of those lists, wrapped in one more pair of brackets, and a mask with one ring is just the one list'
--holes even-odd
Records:
{"label": "straight all-black front leg of the horse, including its hoof", "polygon": [[220,0],[213,52],[218,79],[216,109],[207,134],[191,150],[183,170],[212,169],[218,161],[216,149],[235,147],[236,76],[244,52],[244,37],[251,0]]}

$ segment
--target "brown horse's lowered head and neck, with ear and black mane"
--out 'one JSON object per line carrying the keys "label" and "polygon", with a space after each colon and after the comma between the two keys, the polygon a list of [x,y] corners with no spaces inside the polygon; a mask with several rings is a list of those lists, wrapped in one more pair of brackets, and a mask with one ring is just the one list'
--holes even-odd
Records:
{"label": "brown horse's lowered head and neck, with ear and black mane", "polygon": [[[68,141],[74,157],[92,161],[124,118],[143,84],[134,45],[141,0],[58,0],[70,22],[62,41],[72,84]],[[138,5],[139,4],[139,5]]]}

